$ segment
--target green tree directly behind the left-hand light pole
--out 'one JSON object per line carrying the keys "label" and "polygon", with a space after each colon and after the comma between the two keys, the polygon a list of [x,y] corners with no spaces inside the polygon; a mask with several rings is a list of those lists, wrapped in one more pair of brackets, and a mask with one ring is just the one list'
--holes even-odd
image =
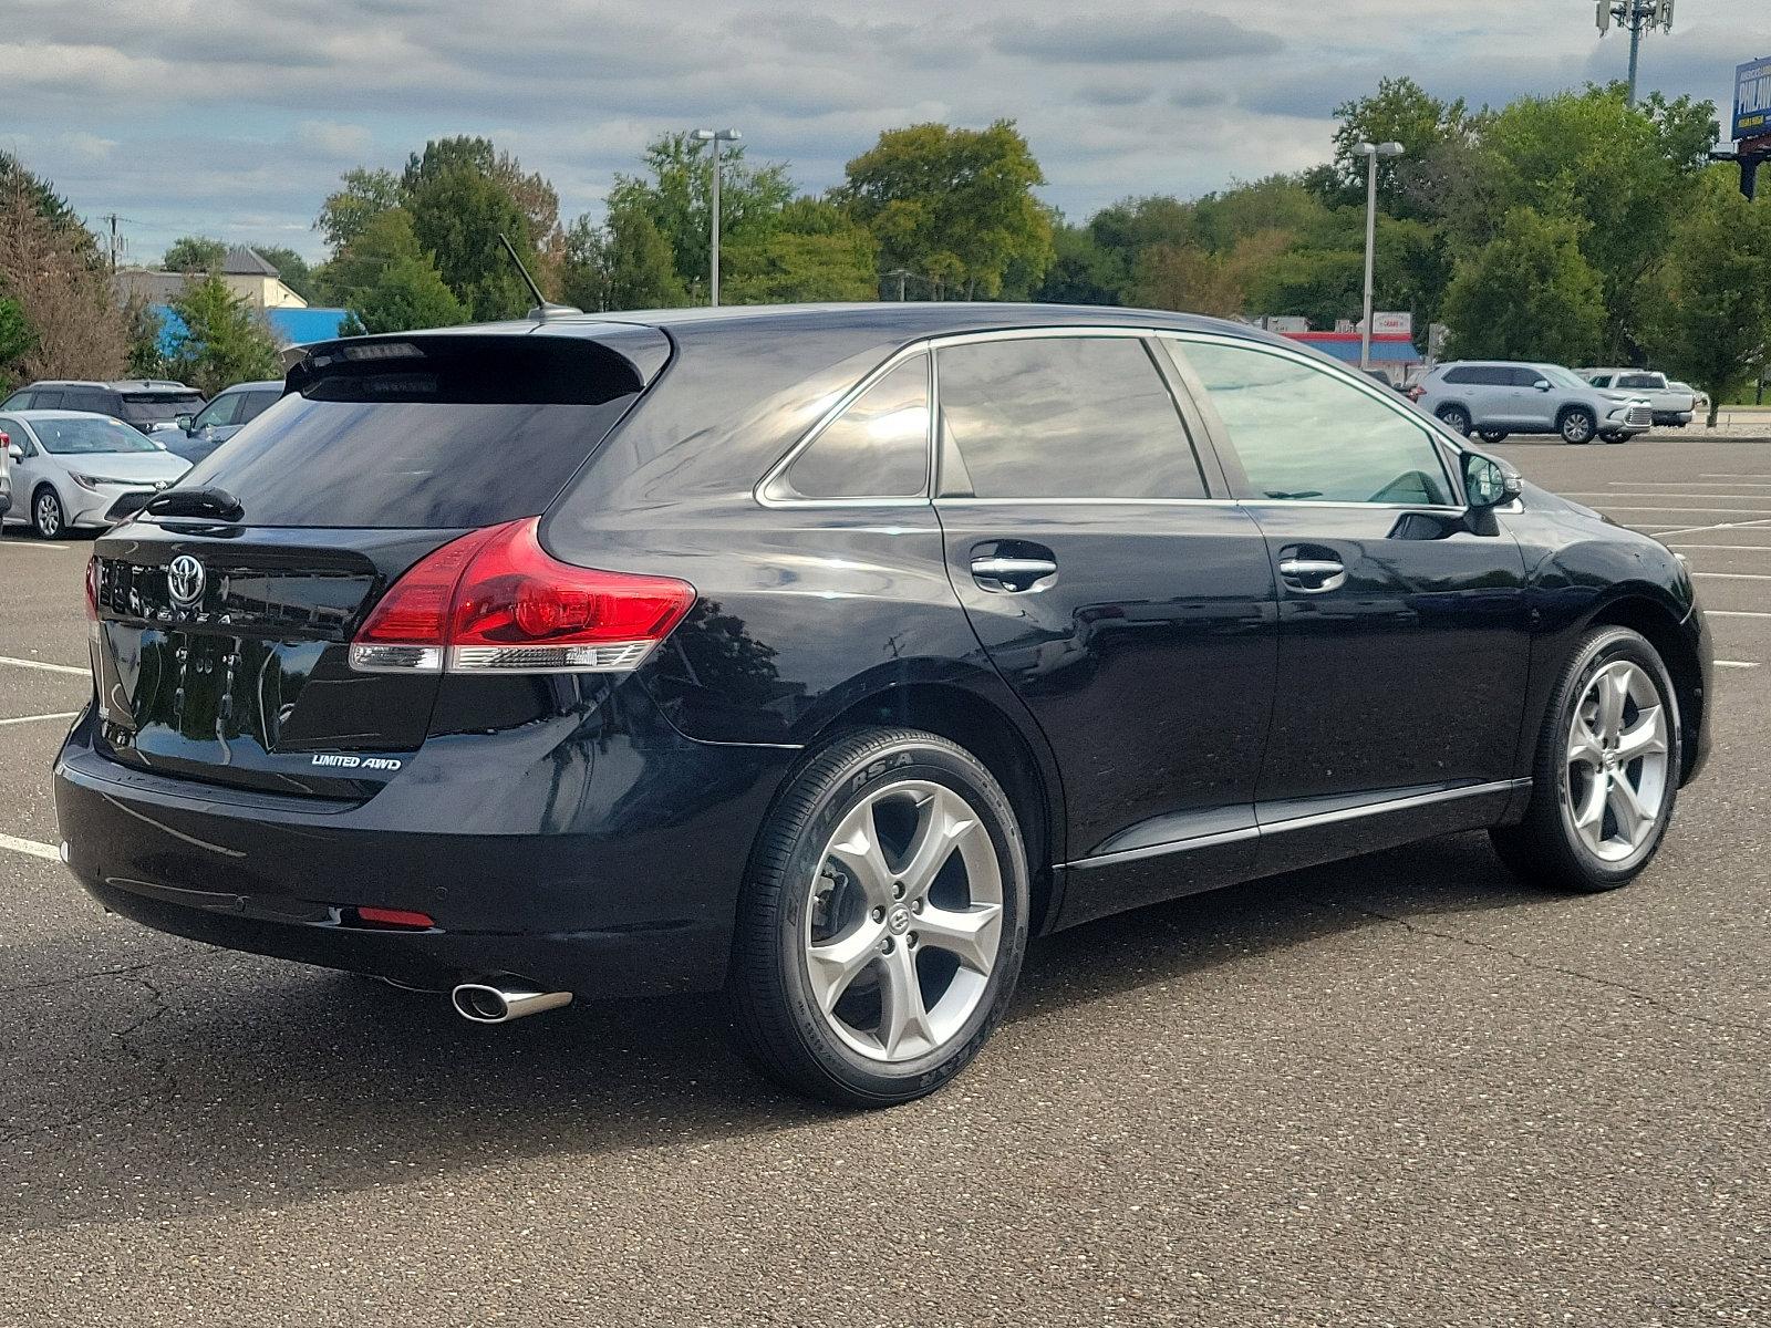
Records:
{"label": "green tree directly behind the left-hand light pole", "polygon": [[[714,212],[714,158],[707,143],[673,133],[646,145],[645,165],[645,175],[615,177],[609,214],[645,212],[669,246],[682,285],[703,285]],[[785,165],[751,166],[744,159],[744,143],[721,145],[721,250],[769,235],[792,197],[793,184]]]}

